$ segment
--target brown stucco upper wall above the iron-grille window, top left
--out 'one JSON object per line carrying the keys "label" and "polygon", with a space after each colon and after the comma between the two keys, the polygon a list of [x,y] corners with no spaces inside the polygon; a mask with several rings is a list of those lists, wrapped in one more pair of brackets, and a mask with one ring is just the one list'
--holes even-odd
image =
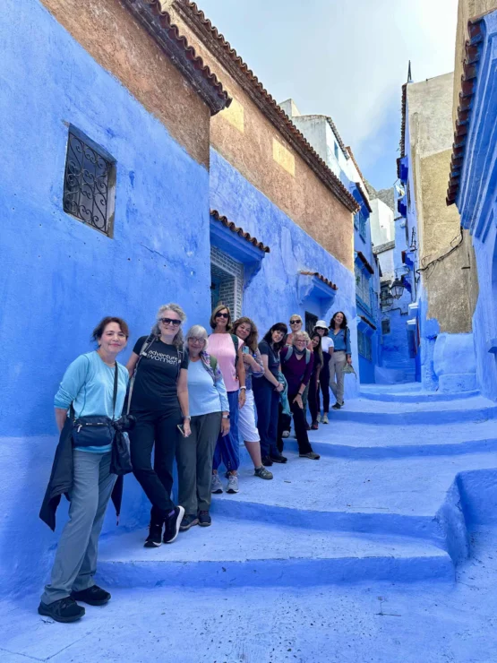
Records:
{"label": "brown stucco upper wall above the iron-grille window, top left", "polygon": [[119,0],[41,2],[193,159],[209,166],[210,109]]}

